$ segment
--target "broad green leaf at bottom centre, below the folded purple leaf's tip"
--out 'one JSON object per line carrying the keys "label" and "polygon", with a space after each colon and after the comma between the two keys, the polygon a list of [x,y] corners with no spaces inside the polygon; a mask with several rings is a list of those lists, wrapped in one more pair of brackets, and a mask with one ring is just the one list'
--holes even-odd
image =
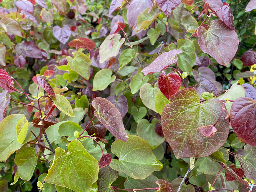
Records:
{"label": "broad green leaf at bottom centre, below the folded purple leaf's tip", "polygon": [[129,135],[127,142],[115,140],[111,145],[111,152],[119,159],[112,159],[110,167],[134,179],[145,179],[163,167],[148,142],[136,135]]}

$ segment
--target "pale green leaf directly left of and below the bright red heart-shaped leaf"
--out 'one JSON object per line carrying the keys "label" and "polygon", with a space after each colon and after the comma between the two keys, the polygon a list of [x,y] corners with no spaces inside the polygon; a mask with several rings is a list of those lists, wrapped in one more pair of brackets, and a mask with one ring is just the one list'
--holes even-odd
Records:
{"label": "pale green leaf directly left of and below the bright red heart-shaped leaf", "polygon": [[149,83],[142,85],[140,90],[140,97],[142,103],[149,109],[156,112],[155,109],[155,96],[158,91],[158,83],[155,83],[154,88]]}

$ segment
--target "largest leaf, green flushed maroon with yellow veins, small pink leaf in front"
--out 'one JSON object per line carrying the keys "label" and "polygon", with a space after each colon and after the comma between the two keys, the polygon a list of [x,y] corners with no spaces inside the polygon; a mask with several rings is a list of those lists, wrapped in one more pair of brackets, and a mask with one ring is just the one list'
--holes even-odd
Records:
{"label": "largest leaf, green flushed maroon with yellow veins, small pink leaf in front", "polygon": [[169,99],[161,116],[164,137],[177,159],[206,157],[217,151],[227,140],[229,119],[222,112],[217,131],[211,137],[203,136],[197,127],[213,125],[220,115],[223,102],[209,99],[200,103],[200,94],[195,88],[185,88]]}

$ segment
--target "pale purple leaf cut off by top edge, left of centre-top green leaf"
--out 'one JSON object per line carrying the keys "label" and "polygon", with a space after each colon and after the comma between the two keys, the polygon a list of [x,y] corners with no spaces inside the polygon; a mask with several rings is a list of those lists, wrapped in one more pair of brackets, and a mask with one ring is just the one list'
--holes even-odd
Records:
{"label": "pale purple leaf cut off by top edge, left of centre-top green leaf", "polygon": [[127,22],[129,27],[137,23],[137,18],[142,11],[151,6],[151,0],[133,0],[127,9]]}

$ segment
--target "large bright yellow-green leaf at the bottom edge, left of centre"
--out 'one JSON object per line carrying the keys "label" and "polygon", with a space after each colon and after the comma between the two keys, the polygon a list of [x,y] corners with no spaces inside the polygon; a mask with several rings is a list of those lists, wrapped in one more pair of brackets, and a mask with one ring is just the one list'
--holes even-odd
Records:
{"label": "large bright yellow-green leaf at the bottom edge, left of centre", "polygon": [[69,153],[57,147],[45,181],[74,191],[89,191],[97,181],[99,166],[78,140],[68,145]]}

